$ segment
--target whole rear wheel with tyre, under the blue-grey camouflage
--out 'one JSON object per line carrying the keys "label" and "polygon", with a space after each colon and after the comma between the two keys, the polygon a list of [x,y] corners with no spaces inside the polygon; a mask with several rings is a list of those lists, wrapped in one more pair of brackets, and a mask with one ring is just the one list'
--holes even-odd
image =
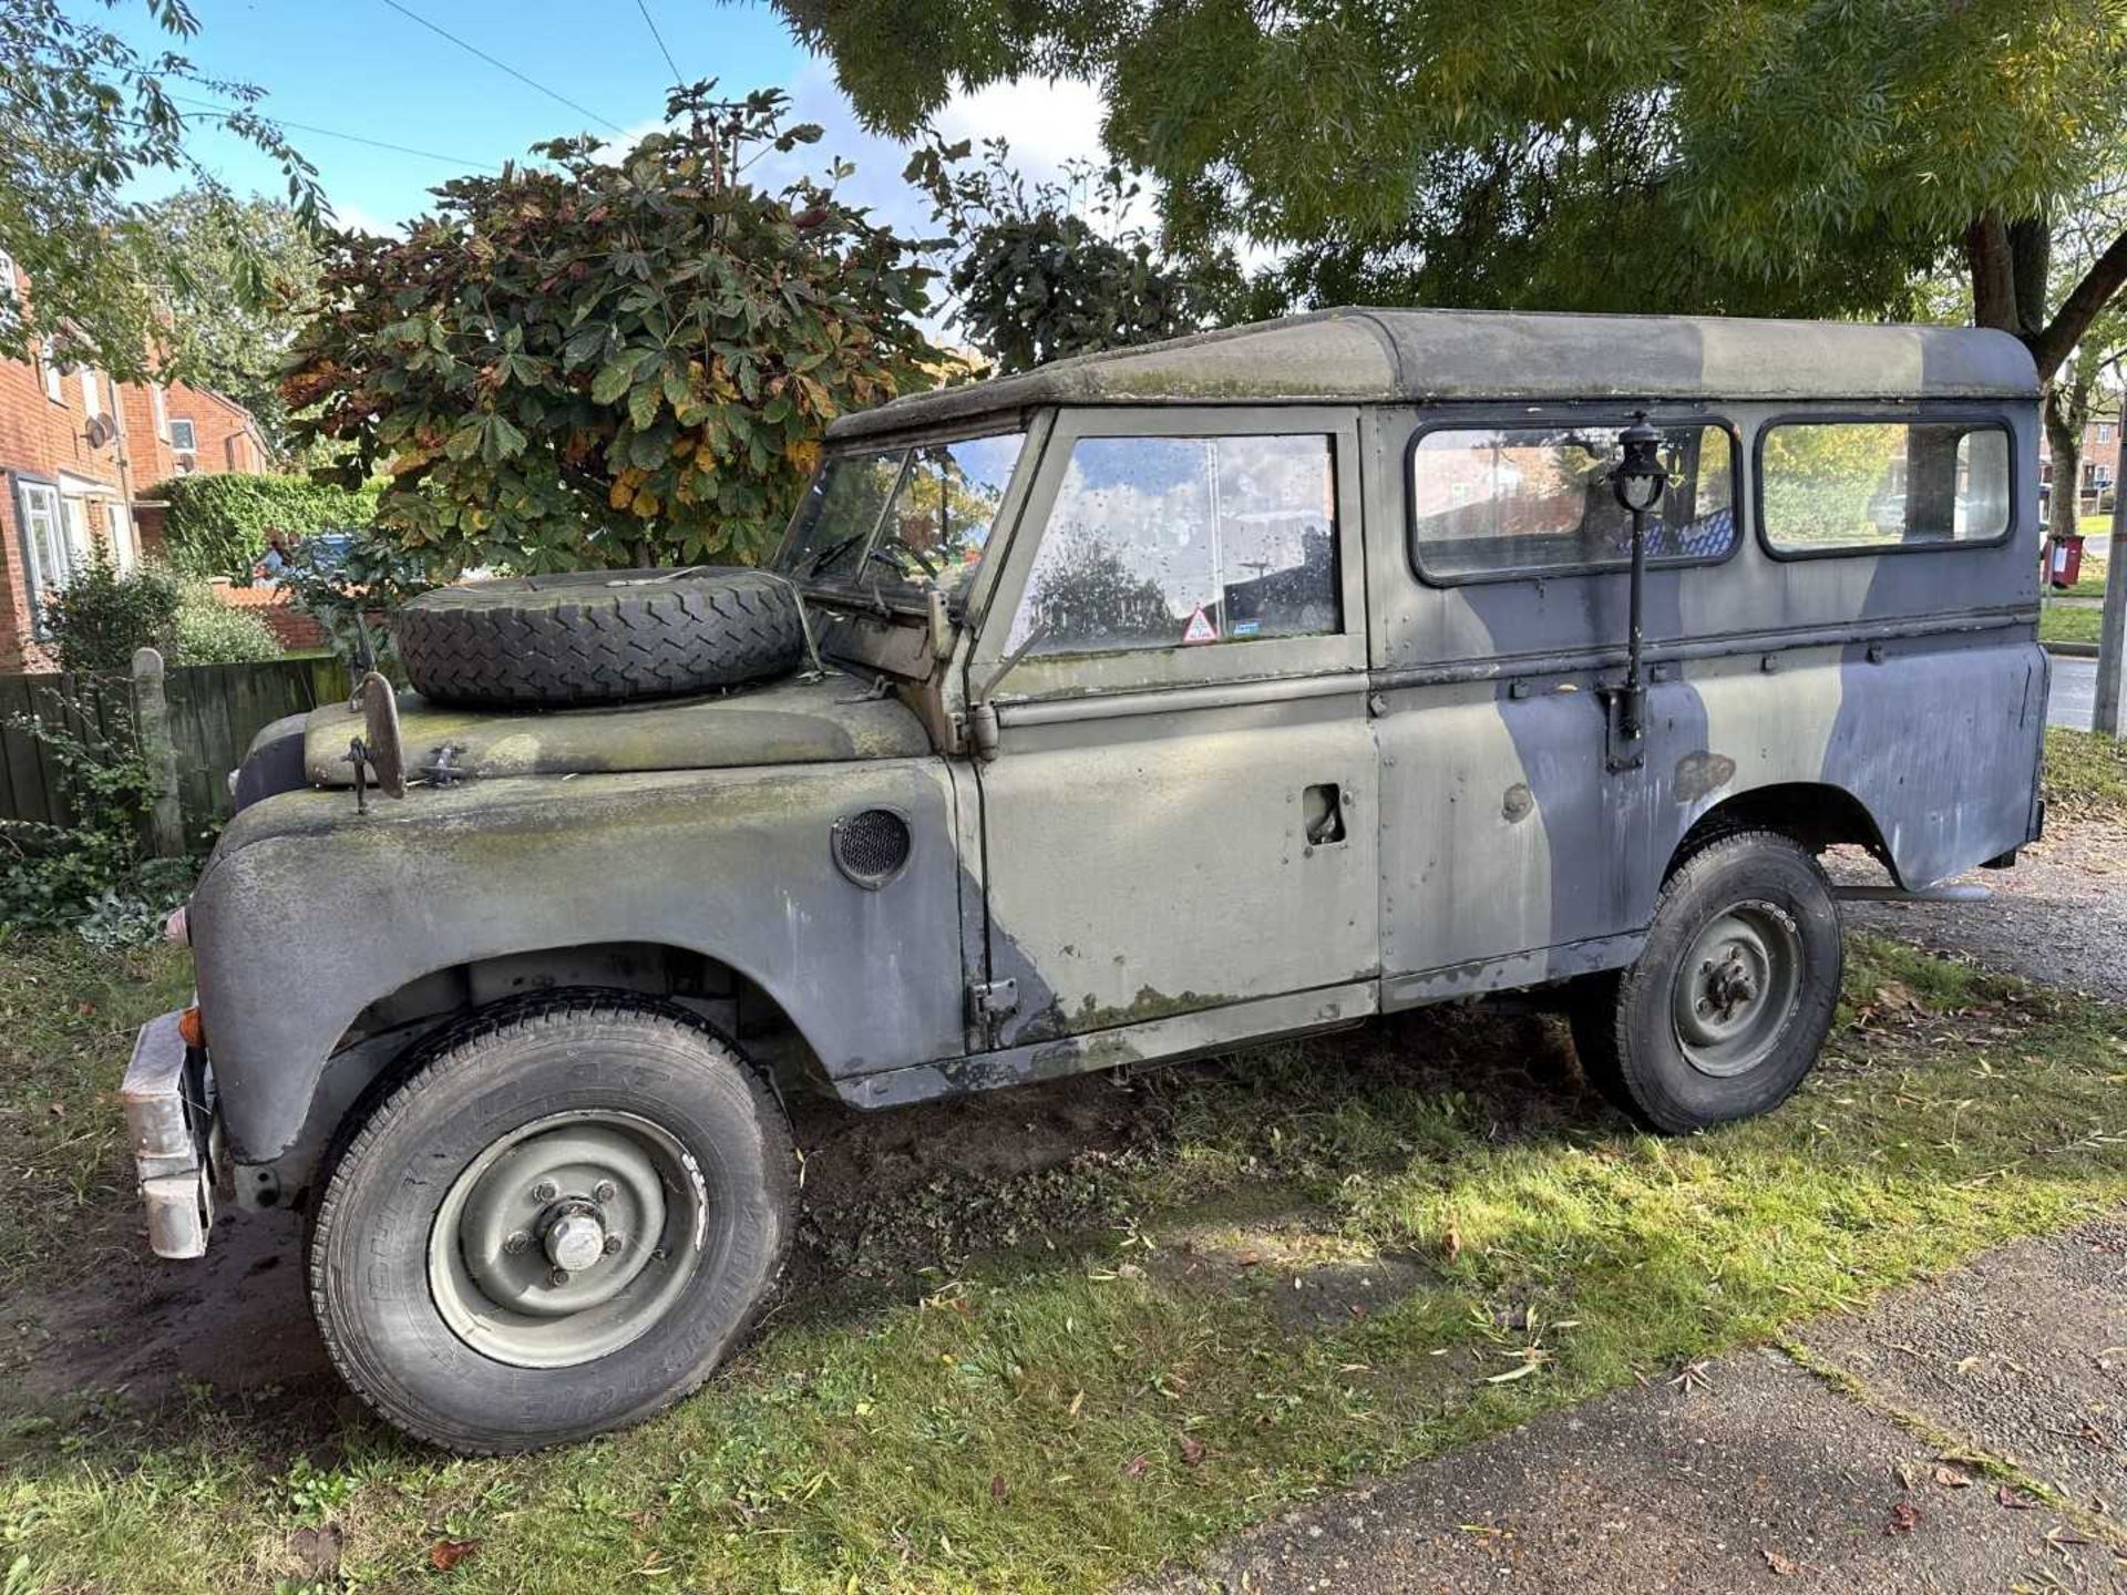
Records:
{"label": "whole rear wheel with tyre, under the blue-grey camouflage", "polygon": [[1842,968],[1816,859],[1776,832],[1725,836],[1663,883],[1638,961],[1582,993],[1580,1070],[1651,1129],[1768,1112],[1816,1063]]}

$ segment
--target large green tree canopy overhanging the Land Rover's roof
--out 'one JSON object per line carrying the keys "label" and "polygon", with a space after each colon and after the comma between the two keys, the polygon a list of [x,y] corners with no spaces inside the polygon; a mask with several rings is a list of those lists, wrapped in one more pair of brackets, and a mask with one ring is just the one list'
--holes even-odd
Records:
{"label": "large green tree canopy overhanging the Land Rover's roof", "polygon": [[1955,253],[2042,372],[2127,276],[2050,317],[2042,221],[2127,125],[2116,0],[776,0],[872,125],[955,87],[1102,85],[1168,234],[1297,251],[1302,298],[1880,315]]}

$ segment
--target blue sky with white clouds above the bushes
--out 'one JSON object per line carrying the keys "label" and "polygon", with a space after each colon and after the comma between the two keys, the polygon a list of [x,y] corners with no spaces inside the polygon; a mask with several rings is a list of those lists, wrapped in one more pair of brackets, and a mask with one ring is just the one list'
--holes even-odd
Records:
{"label": "blue sky with white clouds above the bushes", "polygon": [[[791,121],[827,130],[810,151],[810,170],[823,172],[836,155],[851,160],[857,172],[842,185],[847,198],[900,228],[927,225],[921,198],[900,181],[906,151],[857,128],[827,64],[806,55],[759,2],[191,0],[200,32],[183,43],[153,26],[145,0],[119,0],[113,11],[96,0],[66,4],[83,21],[117,28],[143,53],[177,49],[208,77],[266,89],[259,108],[317,164],[342,225],[389,230],[421,213],[432,185],[498,168],[545,138],[591,132],[617,140],[655,128],[674,72],[651,23],[689,81],[715,77],[734,98],[787,89]],[[440,38],[423,19],[502,66]],[[938,125],[951,138],[1010,138],[1032,177],[1100,153],[1100,98],[1083,83],[998,85],[955,100]],[[279,170],[211,119],[196,123],[189,145],[236,191],[285,194]],[[143,198],[170,187],[174,179],[149,179]]]}

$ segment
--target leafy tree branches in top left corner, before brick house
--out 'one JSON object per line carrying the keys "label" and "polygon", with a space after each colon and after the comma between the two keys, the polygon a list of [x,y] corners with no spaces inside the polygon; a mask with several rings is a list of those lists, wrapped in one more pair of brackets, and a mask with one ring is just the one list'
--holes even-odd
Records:
{"label": "leafy tree branches in top left corner, before brick house", "polygon": [[[119,0],[104,0],[106,6]],[[185,0],[147,0],[174,38],[198,32]],[[191,96],[221,102],[191,108]],[[85,359],[121,381],[183,366],[183,328],[166,285],[183,281],[183,251],[128,200],[143,172],[179,172],[200,196],[202,225],[232,251],[232,285],[253,298],[264,264],[242,232],[242,206],[185,145],[213,117],[266,151],[287,177],[296,215],[323,204],[311,164],[257,111],[259,89],[198,72],[183,55],[143,55],[106,28],[68,17],[60,0],[0,6],[0,249],[28,293],[0,293],[0,357],[26,359],[47,340],[60,359]]]}

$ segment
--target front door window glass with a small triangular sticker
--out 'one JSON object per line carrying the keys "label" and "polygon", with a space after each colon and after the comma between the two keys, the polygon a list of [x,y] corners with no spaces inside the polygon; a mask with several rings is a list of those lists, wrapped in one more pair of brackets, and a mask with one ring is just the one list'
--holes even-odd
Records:
{"label": "front door window glass with a small triangular sticker", "polygon": [[1008,651],[1344,629],[1327,436],[1081,438]]}

